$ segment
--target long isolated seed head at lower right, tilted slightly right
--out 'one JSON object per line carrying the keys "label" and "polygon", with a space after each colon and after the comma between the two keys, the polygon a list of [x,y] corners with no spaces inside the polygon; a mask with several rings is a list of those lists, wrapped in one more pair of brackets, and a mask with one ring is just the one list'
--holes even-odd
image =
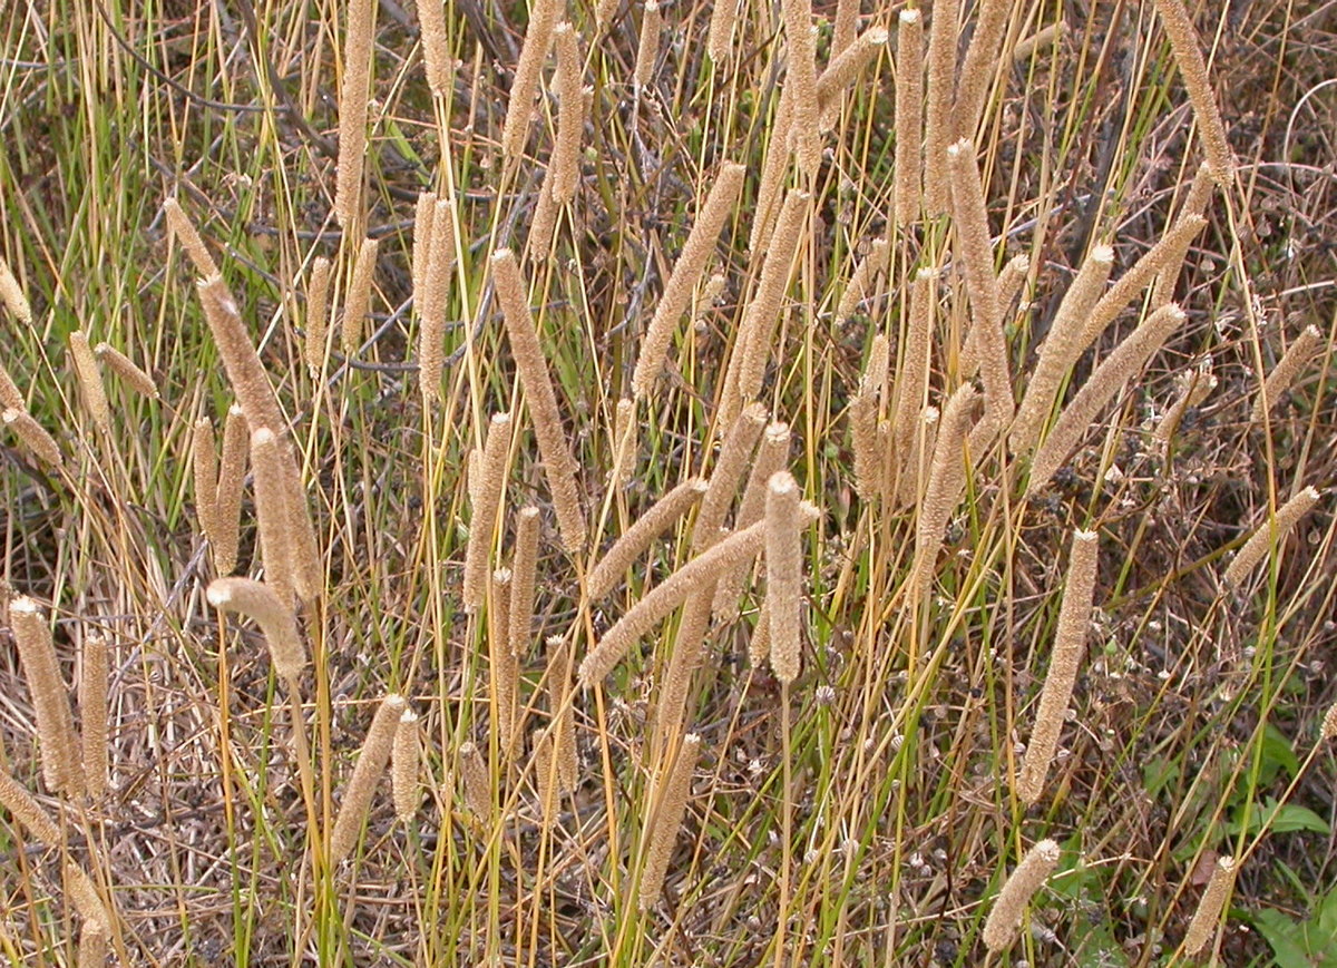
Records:
{"label": "long isolated seed head at lower right, tilted slightly right", "polygon": [[1068,559],[1068,580],[1059,607],[1059,627],[1054,636],[1054,655],[1050,671],[1040,690],[1040,706],[1035,714],[1035,729],[1025,746],[1021,769],[1016,779],[1016,796],[1029,806],[1040,798],[1054,753],[1059,747],[1059,731],[1072,699],[1078,681],[1078,666],[1086,648],[1091,627],[1091,600],[1095,578],[1099,536],[1094,531],[1075,531]]}

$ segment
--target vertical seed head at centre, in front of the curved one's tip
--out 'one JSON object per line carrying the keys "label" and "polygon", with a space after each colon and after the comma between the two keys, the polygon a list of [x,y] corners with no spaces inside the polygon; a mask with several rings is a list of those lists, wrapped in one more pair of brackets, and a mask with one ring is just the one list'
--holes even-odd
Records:
{"label": "vertical seed head at centre, in front of the curved one's tip", "polygon": [[798,678],[802,648],[802,528],[798,484],[781,471],[766,487],[766,600],[770,667],[786,686]]}

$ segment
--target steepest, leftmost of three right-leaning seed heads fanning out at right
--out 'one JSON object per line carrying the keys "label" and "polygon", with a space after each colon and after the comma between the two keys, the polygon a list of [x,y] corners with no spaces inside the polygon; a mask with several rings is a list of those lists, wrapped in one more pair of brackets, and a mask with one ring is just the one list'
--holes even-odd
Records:
{"label": "steepest, leftmost of three right-leaning seed heads fanning out at right", "polygon": [[1031,451],[1040,440],[1040,432],[1044,429],[1050,409],[1054,406],[1063,374],[1082,356],[1082,350],[1074,350],[1082,341],[1087,314],[1099,301],[1112,267],[1114,249],[1096,246],[1082,261],[1076,278],[1072,279],[1068,291],[1063,294],[1063,301],[1050,325],[1050,336],[1040,346],[1035,372],[1027,381],[1016,420],[1012,421],[1012,429],[1008,435],[1012,453]]}

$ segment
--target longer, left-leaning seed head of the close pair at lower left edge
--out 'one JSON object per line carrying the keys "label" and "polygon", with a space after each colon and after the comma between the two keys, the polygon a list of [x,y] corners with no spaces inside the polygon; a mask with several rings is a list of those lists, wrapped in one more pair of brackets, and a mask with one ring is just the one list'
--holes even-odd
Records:
{"label": "longer, left-leaning seed head of the close pair at lower left edge", "polygon": [[37,738],[41,741],[41,777],[52,793],[78,797],[84,789],[83,762],[51,627],[31,598],[9,603],[9,623],[23,660],[23,675],[32,693]]}

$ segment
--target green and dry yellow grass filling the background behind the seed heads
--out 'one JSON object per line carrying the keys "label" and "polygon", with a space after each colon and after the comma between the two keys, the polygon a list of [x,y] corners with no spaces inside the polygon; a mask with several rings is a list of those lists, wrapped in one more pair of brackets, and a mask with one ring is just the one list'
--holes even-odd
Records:
{"label": "green and dry yellow grass filling the background behind the seed heads", "polygon": [[[80,931],[96,919],[87,892],[62,877],[66,861],[90,873],[111,949],[136,964],[1177,964],[1190,960],[1183,941],[1218,858],[1238,873],[1209,952],[1225,964],[1330,955],[1321,931],[1337,904],[1337,753],[1317,741],[1337,701],[1325,167],[1334,88],[1322,83],[1337,15],[1190,9],[1238,164],[1174,287],[1187,321],[1036,495],[1025,496],[1027,455],[997,445],[968,455],[964,495],[916,602],[919,508],[856,495],[850,402],[876,334],[890,340],[893,374],[904,373],[910,282],[937,267],[925,402],[943,408],[971,378],[960,353],[972,304],[952,218],[886,227],[902,7],[862,12],[862,29],[893,35],[842,95],[816,174],[787,163],[786,186],[812,201],[761,394],[767,418],[790,424],[787,469],[822,511],[804,532],[801,673],[781,683],[749,664],[765,599],[759,562],[739,619],[707,628],[685,717],[702,739],[685,820],[662,897],[642,911],[651,830],[660,810],[674,812],[663,789],[681,745],[652,742],[655,703],[690,615],[675,611],[607,679],[572,691],[579,783],[547,802],[540,792],[556,785],[533,753],[563,710],[550,702],[560,690],[547,681],[544,638],[563,636],[579,666],[701,551],[689,515],[611,595],[582,591],[599,552],[650,504],[714,471],[723,377],[743,349],[739,325],[766,249],[749,253],[747,241],[763,162],[782,139],[785,17],[778,7],[742,11],[729,60],[715,64],[710,5],[662,7],[660,55],[638,95],[642,5],[619,8],[604,35],[592,7],[563,8],[584,59],[588,120],[575,202],[535,253],[527,242],[559,118],[551,56],[524,152],[508,163],[500,151],[527,9],[448,5],[453,91],[433,99],[413,11],[377,4],[366,180],[345,234],[333,195],[346,7],[0,8],[0,257],[33,308],[31,325],[0,309],[0,365],[64,455],[57,471],[13,433],[0,441],[3,600],[31,596],[45,610],[71,685],[94,635],[106,638],[111,669],[110,789],[53,796],[4,608],[0,766],[59,818],[63,837],[44,848],[0,810],[5,959],[76,963]],[[1027,0],[1007,11],[975,142],[993,267],[1029,257],[1004,326],[1019,400],[1086,251],[1114,245],[1118,278],[1150,249],[1202,143],[1154,4]],[[818,71],[834,15],[817,9]],[[967,4],[965,35],[976,16]],[[1060,43],[1012,60],[1012,47],[1060,16]],[[747,168],[741,201],[713,239],[664,372],[638,404],[630,476],[610,485],[618,401],[631,394],[659,295],[726,160]],[[440,400],[428,405],[410,263],[422,190],[448,201],[457,247]],[[221,428],[234,396],[194,267],[167,231],[162,205],[172,195],[237,297],[316,521],[324,594],[299,611],[310,655],[299,733],[253,623],[205,596],[217,575],[195,511],[193,427],[209,417]],[[345,356],[338,313],[368,235],[378,241],[370,318]],[[840,320],[878,238],[890,243],[889,270]],[[576,554],[563,551],[492,289],[491,257],[503,247],[531,283],[579,468],[591,537]],[[333,263],[336,345],[312,373],[305,297],[318,255]],[[726,285],[706,305],[714,273]],[[1139,295],[1115,320],[1068,373],[1060,404],[1154,309]],[[1254,420],[1263,377],[1309,325],[1321,350]],[[76,330],[151,373],[160,398],[103,366],[111,429],[100,431],[68,354]],[[1203,360],[1215,389],[1158,443],[1157,420]],[[880,406],[890,416],[894,398]],[[515,755],[493,727],[496,586],[487,582],[476,611],[460,598],[475,515],[468,455],[499,412],[512,425],[489,575],[509,566],[516,511],[541,511]],[[1320,489],[1314,509],[1227,587],[1234,551],[1306,485]],[[1060,754],[1025,809],[1012,781],[1079,528],[1099,535],[1095,612]],[[247,485],[237,574],[271,579],[255,531]],[[382,777],[357,846],[332,866],[329,833],[388,694],[420,717],[421,805],[398,821]],[[465,743],[481,751],[481,774],[461,757]],[[995,898],[1044,840],[1062,850],[1058,868],[1029,900],[1019,940],[988,953],[981,932]]]}

